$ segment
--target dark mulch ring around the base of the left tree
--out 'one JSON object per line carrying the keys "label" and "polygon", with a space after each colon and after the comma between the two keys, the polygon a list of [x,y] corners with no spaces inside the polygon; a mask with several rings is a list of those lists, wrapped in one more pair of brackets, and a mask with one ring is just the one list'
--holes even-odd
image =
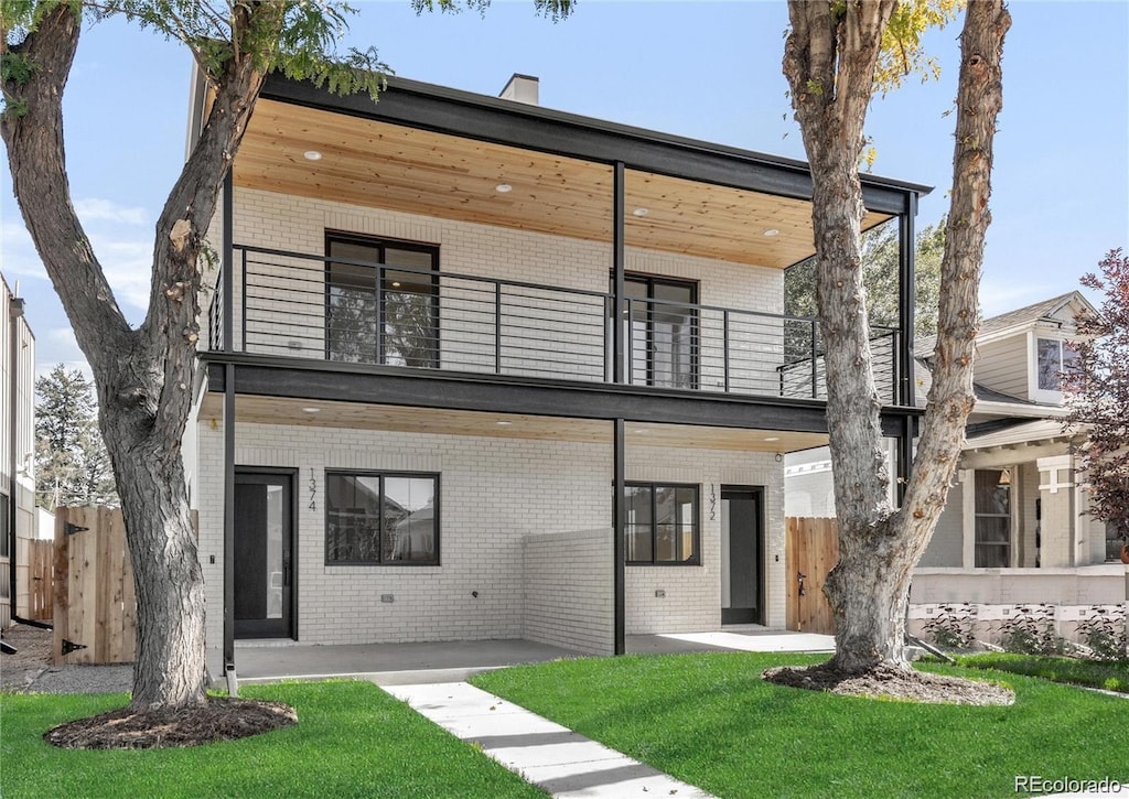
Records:
{"label": "dark mulch ring around the base of the left tree", "polygon": [[113,710],[60,725],[43,739],[67,749],[156,749],[235,740],[296,723],[294,708],[281,702],[209,696],[182,710]]}

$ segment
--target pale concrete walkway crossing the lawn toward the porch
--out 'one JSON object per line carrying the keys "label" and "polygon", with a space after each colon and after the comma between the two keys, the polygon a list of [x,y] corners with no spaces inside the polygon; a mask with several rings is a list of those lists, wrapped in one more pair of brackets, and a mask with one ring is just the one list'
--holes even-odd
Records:
{"label": "pale concrete walkway crossing the lawn toward the porch", "polygon": [[387,685],[384,690],[554,797],[710,797],[466,683]]}

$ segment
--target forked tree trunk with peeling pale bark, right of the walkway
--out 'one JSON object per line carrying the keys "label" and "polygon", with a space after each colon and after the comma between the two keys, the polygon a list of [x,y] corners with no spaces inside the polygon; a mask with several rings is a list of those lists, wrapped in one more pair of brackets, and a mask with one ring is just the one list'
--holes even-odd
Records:
{"label": "forked tree trunk with peeling pale bark, right of the walkway", "polygon": [[839,517],[838,565],[825,591],[835,614],[831,667],[908,669],[909,582],[945,504],[972,409],[980,265],[1000,59],[1010,16],[1003,0],[971,0],[961,36],[953,191],[942,260],[936,367],[902,507],[886,499],[881,403],[863,286],[858,164],[882,36],[896,0],[789,0],[784,72],[813,179],[816,300],[826,352],[828,428]]}

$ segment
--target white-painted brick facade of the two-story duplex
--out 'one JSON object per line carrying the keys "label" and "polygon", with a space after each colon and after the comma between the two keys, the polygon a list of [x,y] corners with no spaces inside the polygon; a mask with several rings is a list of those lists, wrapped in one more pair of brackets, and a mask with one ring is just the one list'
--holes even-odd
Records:
{"label": "white-painted brick facade of the two-story duplex", "polygon": [[[239,188],[235,192],[234,240],[239,245],[322,255],[326,230],[362,234],[439,246],[439,269],[487,278],[527,281],[606,292],[612,265],[607,243],[535,234],[508,228],[365,209],[323,200]],[[322,358],[324,330],[323,265],[271,256],[292,264],[271,276],[264,272],[263,330],[279,334],[275,350],[253,351]],[[669,253],[627,251],[627,269],[698,281],[701,305],[779,314],[782,273],[774,269],[732,264]],[[297,270],[297,271],[296,271]],[[296,273],[305,271],[306,297],[295,299]],[[283,276],[285,275],[285,276]],[[440,325],[461,315],[457,280],[440,287]],[[455,292],[448,296],[448,291]],[[250,293],[250,292],[248,292]],[[242,319],[236,297],[236,330]],[[602,300],[601,300],[602,305]],[[308,306],[308,307],[306,307]],[[555,313],[555,311],[554,311]],[[603,317],[602,308],[596,313]],[[303,323],[303,314],[308,314]],[[320,316],[321,315],[321,316]],[[703,331],[715,324],[708,313]],[[288,346],[288,331],[307,324],[313,334],[301,346]],[[760,324],[760,323],[758,323]],[[771,327],[776,322],[765,323]],[[574,352],[576,379],[604,379],[603,344],[570,339],[567,316],[549,318],[541,334],[554,348]],[[779,337],[780,330],[770,333]],[[440,326],[440,339],[444,330]],[[734,332],[735,352],[743,343]],[[750,333],[746,354],[767,367],[767,376],[747,378],[768,385],[778,380],[774,365],[782,350]],[[237,345],[242,342],[236,342]],[[254,343],[254,342],[248,342]],[[296,342],[297,343],[297,342]],[[473,337],[465,340],[467,363],[475,363]],[[492,350],[492,341],[491,341]],[[492,369],[491,353],[481,368]],[[595,368],[592,375],[594,365]],[[702,387],[721,387],[718,357],[700,353]],[[759,384],[758,384],[759,385]],[[703,420],[708,421],[708,420]],[[209,666],[219,674],[222,652],[224,576],[224,420],[201,419],[198,425],[198,473],[191,477],[200,510],[200,553],[209,608]],[[186,441],[191,446],[192,437]],[[190,457],[190,462],[192,458]],[[237,465],[297,469],[297,630],[301,643],[366,643],[457,639],[520,638],[552,640],[586,651],[606,651],[601,642],[611,620],[612,444],[542,441],[514,438],[418,434],[287,424],[238,424]],[[439,567],[343,567],[325,563],[325,469],[429,472],[439,474]],[[708,449],[628,449],[628,480],[691,483],[700,486],[701,564],[695,567],[629,567],[627,632],[686,632],[720,626],[720,490],[721,485],[764,488],[762,570],[768,597],[765,621],[785,623],[782,464],[771,454]],[[313,486],[313,488],[312,488]],[[716,498],[716,508],[710,498]],[[584,530],[584,533],[576,533]],[[551,537],[545,537],[549,534]],[[523,546],[523,542],[526,543]],[[569,552],[575,556],[568,557]],[[553,554],[555,553],[555,554]],[[545,564],[555,560],[559,578]],[[593,579],[604,562],[605,577]],[[549,629],[551,597],[562,596],[563,582],[575,587],[567,605],[569,625]],[[562,582],[563,581],[563,582]],[[656,590],[665,597],[655,596]],[[472,592],[476,592],[474,596]],[[392,594],[393,603],[380,600]],[[599,609],[601,603],[606,606]],[[562,606],[563,607],[563,606]],[[587,624],[588,629],[585,629]],[[610,633],[609,633],[610,634]]]}

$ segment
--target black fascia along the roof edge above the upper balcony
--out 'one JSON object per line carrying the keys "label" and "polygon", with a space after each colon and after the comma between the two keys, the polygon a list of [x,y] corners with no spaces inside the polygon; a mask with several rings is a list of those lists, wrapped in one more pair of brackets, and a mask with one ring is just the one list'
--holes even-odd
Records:
{"label": "black fascia along the roof edge above the upper balcony", "polygon": [[[603,120],[530,106],[470,91],[390,78],[373,103],[368,95],[332,95],[309,81],[271,74],[261,94],[349,116],[450,135],[550,152],[671,177],[743,188],[796,200],[812,199],[804,161],[695,139],[648,131]],[[861,175],[863,202],[870,211],[905,214],[911,196],[931,186]]]}

